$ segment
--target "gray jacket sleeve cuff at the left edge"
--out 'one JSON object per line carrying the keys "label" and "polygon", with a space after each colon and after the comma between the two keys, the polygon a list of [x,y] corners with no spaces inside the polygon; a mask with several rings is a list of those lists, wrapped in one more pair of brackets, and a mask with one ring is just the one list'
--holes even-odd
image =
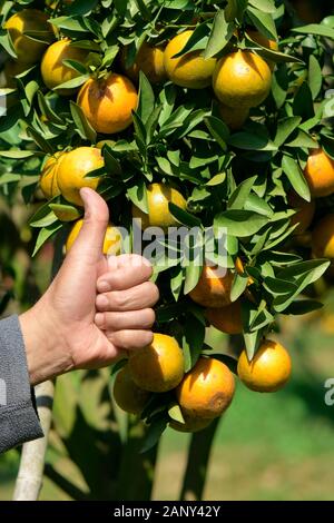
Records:
{"label": "gray jacket sleeve cuff at the left edge", "polygon": [[0,453],[42,437],[18,316],[0,322]]}

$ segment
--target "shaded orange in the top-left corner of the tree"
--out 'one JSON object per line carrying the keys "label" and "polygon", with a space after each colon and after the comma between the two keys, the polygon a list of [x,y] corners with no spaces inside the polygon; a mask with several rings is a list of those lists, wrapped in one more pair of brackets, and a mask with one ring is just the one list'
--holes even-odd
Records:
{"label": "shaded orange in the top-left corner of the tree", "polygon": [[48,43],[33,40],[27,36],[27,32],[36,32],[36,36],[49,43],[53,40],[55,37],[48,18],[48,14],[37,9],[23,9],[10,17],[4,23],[18,60],[21,63],[32,65],[37,62],[48,47]]}

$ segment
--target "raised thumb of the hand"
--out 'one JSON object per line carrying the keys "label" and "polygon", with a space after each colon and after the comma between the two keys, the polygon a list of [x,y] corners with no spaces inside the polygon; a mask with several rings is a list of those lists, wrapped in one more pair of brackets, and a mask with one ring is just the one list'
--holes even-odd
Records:
{"label": "raised thumb of the hand", "polygon": [[69,254],[97,262],[102,254],[109,209],[104,198],[88,187],[80,190],[80,196],[85,205],[84,224]]}

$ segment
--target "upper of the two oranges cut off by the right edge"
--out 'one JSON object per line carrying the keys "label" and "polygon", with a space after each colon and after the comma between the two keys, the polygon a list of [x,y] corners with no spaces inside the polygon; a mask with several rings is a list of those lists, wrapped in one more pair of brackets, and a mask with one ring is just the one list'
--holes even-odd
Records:
{"label": "upper of the two oranges cut off by the right edge", "polygon": [[323,149],[312,150],[304,176],[312,196],[330,196],[334,193],[334,160]]}

